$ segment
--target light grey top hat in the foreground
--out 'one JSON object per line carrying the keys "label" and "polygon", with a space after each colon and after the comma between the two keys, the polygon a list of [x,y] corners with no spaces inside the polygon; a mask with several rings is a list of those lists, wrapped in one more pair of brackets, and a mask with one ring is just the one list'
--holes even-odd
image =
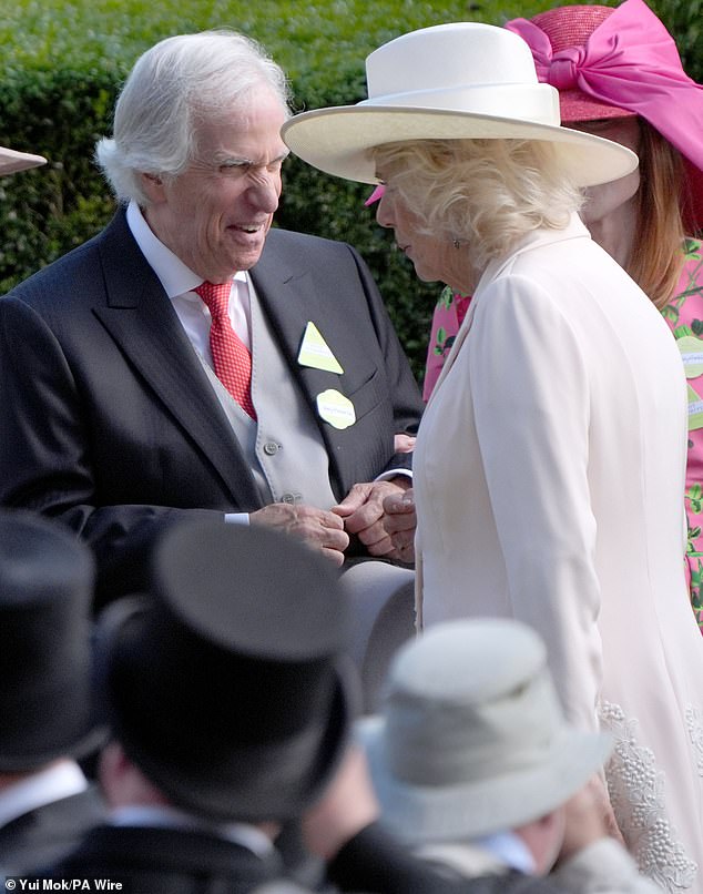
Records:
{"label": "light grey top hat in the foreground", "polygon": [[403,647],[381,717],[358,723],[383,816],[410,844],[516,829],[581,789],[609,734],[569,727],[542,640],[510,619],[437,624]]}

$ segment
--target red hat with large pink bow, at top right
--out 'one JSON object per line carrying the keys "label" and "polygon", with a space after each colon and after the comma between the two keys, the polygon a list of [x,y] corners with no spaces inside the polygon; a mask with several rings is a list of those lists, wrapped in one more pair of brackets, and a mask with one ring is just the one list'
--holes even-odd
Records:
{"label": "red hat with large pink bow, at top right", "polygon": [[703,87],[643,0],[568,6],[506,24],[532,50],[537,77],[559,91],[562,124],[640,115],[684,158],[684,224],[703,228]]}

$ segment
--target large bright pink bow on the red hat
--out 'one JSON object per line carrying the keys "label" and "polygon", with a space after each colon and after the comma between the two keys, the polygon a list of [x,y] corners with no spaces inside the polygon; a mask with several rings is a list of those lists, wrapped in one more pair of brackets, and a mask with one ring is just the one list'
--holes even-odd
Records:
{"label": "large bright pink bow on the red hat", "polygon": [[506,28],[530,45],[540,81],[641,115],[703,169],[703,87],[683,71],[676,44],[643,0],[625,0],[583,45],[558,52],[527,19]]}

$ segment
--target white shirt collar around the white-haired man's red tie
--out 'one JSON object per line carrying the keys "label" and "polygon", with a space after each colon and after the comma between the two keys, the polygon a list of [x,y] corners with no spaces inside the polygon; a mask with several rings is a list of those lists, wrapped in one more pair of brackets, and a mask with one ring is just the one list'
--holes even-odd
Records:
{"label": "white shirt collar around the white-haired man's red tie", "polygon": [[[203,277],[187,267],[171,248],[154,235],[136,202],[126,209],[126,222],[146,263],[156,274],[164,292],[181,321],[193,347],[212,366],[210,353],[210,312],[193,292]],[[246,271],[238,271],[233,280],[234,301],[230,301],[230,321],[242,342],[251,348],[249,301],[253,289]]]}

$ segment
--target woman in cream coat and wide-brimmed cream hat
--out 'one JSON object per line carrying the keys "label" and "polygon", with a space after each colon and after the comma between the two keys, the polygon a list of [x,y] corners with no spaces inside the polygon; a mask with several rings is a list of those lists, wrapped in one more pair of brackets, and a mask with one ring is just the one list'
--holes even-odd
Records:
{"label": "woman in cream coat and wide-brimmed cream hat", "polygon": [[297,115],[284,139],[323,171],[385,183],[377,219],[418,276],[473,295],[415,448],[418,624],[536,627],[569,721],[615,735],[612,801],[642,871],[700,891],[685,379],[661,314],[578,216],[583,187],[636,156],[560,126],[557,90],[506,29],[405,34],[367,80],[368,100]]}

